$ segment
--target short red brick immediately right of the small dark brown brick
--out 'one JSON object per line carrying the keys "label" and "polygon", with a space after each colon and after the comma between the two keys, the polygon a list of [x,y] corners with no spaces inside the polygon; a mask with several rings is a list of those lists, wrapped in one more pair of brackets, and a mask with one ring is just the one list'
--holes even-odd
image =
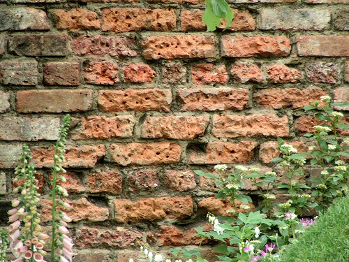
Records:
{"label": "short red brick immediately right of the small dark brown brick", "polygon": [[225,65],[215,66],[214,64],[196,64],[191,67],[191,78],[195,84],[211,84],[228,82],[228,73]]}

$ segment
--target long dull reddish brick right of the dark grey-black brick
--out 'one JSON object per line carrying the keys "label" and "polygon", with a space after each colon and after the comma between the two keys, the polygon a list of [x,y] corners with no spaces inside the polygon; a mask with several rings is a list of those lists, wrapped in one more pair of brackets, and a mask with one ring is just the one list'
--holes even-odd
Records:
{"label": "long dull reddish brick right of the dark grey-black brick", "polygon": [[73,38],[70,44],[75,54],[93,54],[112,57],[135,57],[135,41],[124,36],[83,35]]}

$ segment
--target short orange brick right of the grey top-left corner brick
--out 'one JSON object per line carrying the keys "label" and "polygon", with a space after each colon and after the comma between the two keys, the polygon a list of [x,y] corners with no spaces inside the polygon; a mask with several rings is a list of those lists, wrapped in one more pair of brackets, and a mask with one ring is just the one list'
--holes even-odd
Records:
{"label": "short orange brick right of the grey top-left corner brick", "polygon": [[54,10],[54,19],[58,29],[98,29],[101,28],[96,12],[74,8],[71,10],[58,9]]}

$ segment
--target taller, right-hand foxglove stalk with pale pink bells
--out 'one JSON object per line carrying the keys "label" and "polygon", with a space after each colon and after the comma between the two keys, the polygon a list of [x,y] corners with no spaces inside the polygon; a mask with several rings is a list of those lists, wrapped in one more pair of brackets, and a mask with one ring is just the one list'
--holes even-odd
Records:
{"label": "taller, right-hand foxglove stalk with pale pink bells", "polygon": [[64,162],[65,143],[66,136],[68,134],[70,124],[70,115],[66,115],[63,119],[63,124],[59,129],[59,136],[57,138],[57,143],[54,147],[54,157],[52,173],[53,177],[51,180],[52,184],[52,245],[51,245],[51,261],[72,261],[73,259],[73,240],[68,237],[68,228],[66,228],[67,223],[71,221],[68,215],[58,210],[60,205],[62,208],[68,208],[68,203],[64,203],[59,200],[58,196],[68,196],[68,192],[63,187],[57,185],[57,181],[61,180],[66,182],[64,176],[59,175],[59,173],[66,173],[66,170],[62,168],[61,163]]}

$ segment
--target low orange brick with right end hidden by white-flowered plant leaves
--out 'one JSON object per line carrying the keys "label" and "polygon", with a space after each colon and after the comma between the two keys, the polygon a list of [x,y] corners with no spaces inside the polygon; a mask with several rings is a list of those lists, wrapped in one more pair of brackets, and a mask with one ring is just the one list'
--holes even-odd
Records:
{"label": "low orange brick with right end hidden by white-flowered plant leaves", "polygon": [[[244,208],[240,208],[240,205],[248,205],[250,210],[245,210]],[[204,198],[202,201],[198,203],[198,208],[202,208],[203,210],[207,210],[216,216],[225,216],[225,217],[234,217],[236,214],[249,212],[255,208],[255,206],[250,204],[245,204],[237,199],[235,199],[235,207],[230,202],[229,198]],[[235,212],[231,212],[235,210]]]}

